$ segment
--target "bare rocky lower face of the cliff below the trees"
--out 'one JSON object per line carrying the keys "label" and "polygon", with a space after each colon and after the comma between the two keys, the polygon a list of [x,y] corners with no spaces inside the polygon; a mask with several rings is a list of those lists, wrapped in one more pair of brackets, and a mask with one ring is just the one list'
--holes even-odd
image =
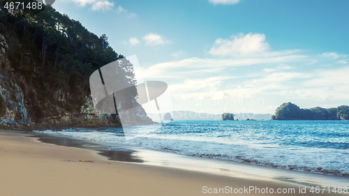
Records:
{"label": "bare rocky lower face of the cliff below the trees", "polygon": [[[90,96],[84,98],[79,110],[68,111],[64,105],[73,96],[62,92],[62,89],[47,89],[55,97],[56,103],[49,98],[40,98],[38,89],[33,82],[27,81],[23,73],[17,73],[8,59],[8,42],[0,34],[0,128],[33,130],[60,129],[70,127],[101,127],[121,126],[115,114],[99,114],[94,112]],[[30,52],[28,53],[28,56]],[[28,57],[22,62],[31,61]],[[35,63],[35,62],[34,62]],[[152,123],[144,110],[138,111],[137,116],[131,116],[140,123]]]}

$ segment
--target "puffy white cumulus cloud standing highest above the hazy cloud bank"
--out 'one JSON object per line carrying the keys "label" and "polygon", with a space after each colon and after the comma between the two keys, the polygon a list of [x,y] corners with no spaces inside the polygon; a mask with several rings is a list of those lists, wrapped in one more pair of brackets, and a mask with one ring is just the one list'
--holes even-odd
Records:
{"label": "puffy white cumulus cloud standing highest above the hazy cloud bank", "polygon": [[270,50],[269,44],[265,41],[265,35],[260,33],[240,33],[231,36],[230,39],[218,38],[209,54],[214,56],[248,56],[260,54]]}

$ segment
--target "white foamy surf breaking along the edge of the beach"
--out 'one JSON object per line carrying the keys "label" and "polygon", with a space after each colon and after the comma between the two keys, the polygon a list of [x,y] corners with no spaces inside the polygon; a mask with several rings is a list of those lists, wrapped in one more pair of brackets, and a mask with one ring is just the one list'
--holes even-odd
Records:
{"label": "white foamy surf breaking along the edge of the beach", "polygon": [[[117,130],[114,129],[103,129],[103,131],[101,132],[101,134],[95,133],[94,130],[96,129],[91,129],[91,130],[87,130],[86,134],[85,134],[85,128],[72,128],[71,130],[67,130],[67,131],[62,131],[62,132],[56,132],[56,131],[52,131],[52,130],[48,130],[46,131],[38,131],[35,133],[43,133],[43,134],[47,134],[50,135],[49,137],[70,137],[70,138],[74,138],[73,140],[81,140],[84,142],[97,142],[97,143],[102,143],[102,145],[107,145],[110,148],[115,148],[118,149],[121,146],[126,147],[127,151],[133,151],[131,149],[135,149],[135,151],[143,151],[143,149],[145,150],[149,150],[149,151],[160,151],[160,152],[168,152],[168,153],[174,153],[174,154],[178,154],[178,155],[183,155],[186,157],[196,157],[196,158],[207,158],[207,160],[226,160],[230,163],[242,163],[244,165],[253,165],[253,166],[261,166],[261,167],[268,167],[268,168],[276,168],[276,169],[282,169],[282,170],[287,170],[287,171],[298,171],[298,172],[302,172],[301,174],[304,173],[311,173],[311,174],[325,174],[326,176],[343,176],[345,178],[348,179],[349,174],[348,174],[348,169],[343,169],[348,167],[348,165],[346,164],[346,161],[341,161],[336,163],[336,165],[332,165],[330,164],[330,162],[332,162],[332,160],[336,160],[336,157],[331,156],[331,152],[329,151],[328,153],[307,153],[304,156],[302,156],[302,158],[299,158],[299,161],[301,163],[303,163],[303,160],[307,160],[307,159],[313,159],[313,160],[317,160],[316,158],[321,157],[321,155],[323,157],[327,157],[329,156],[329,158],[324,159],[324,161],[322,161],[322,164],[316,164],[316,161],[313,161],[314,165],[309,164],[298,164],[298,162],[292,161],[293,158],[297,157],[295,156],[290,156],[290,158],[285,158],[282,159],[281,157],[285,157],[285,155],[287,155],[287,153],[290,153],[291,155],[294,155],[295,153],[293,153],[292,149],[289,151],[282,151],[283,153],[279,153],[278,150],[276,148],[275,151],[265,151],[265,154],[262,153],[254,153],[253,151],[244,151],[243,148],[241,148],[241,144],[237,144],[235,146],[240,147],[240,148],[233,148],[232,151],[228,151],[228,150],[224,150],[224,149],[230,149],[231,146],[218,146],[218,148],[221,148],[222,150],[218,149],[215,151],[211,151],[211,149],[205,149],[204,146],[204,151],[200,151],[200,148],[198,148],[198,146],[200,146],[201,144],[198,143],[193,143],[193,142],[186,142],[186,141],[190,141],[190,140],[183,140],[184,142],[182,142],[181,140],[153,140],[152,138],[146,138],[149,140],[138,140],[138,138],[136,140],[123,140],[124,137],[117,137],[118,135],[110,135],[111,133],[118,133]],[[105,133],[106,134],[105,134]],[[110,133],[110,134],[109,134]],[[173,142],[175,141],[175,142]],[[51,142],[49,142],[51,143]],[[54,142],[55,143],[55,142]],[[200,142],[199,142],[200,143]],[[189,147],[181,147],[181,145],[184,146],[189,146]],[[215,146],[217,148],[217,145]],[[296,146],[297,148],[297,146]],[[267,148],[265,148],[267,149]],[[270,148],[273,149],[273,148]],[[252,148],[253,150],[253,148]],[[298,150],[298,149],[297,149]],[[316,149],[315,149],[316,150]],[[244,151],[244,153],[239,153],[239,151]],[[249,156],[249,153],[252,153],[251,156]],[[298,152],[299,153],[299,152]],[[320,156],[318,156],[320,154]],[[165,153],[164,153],[165,155]],[[247,155],[247,156],[246,156]],[[269,156],[267,158],[265,158],[263,160],[260,159],[261,156]],[[303,155],[301,153],[301,155]],[[273,156],[276,156],[276,159],[274,160]],[[345,157],[345,155],[343,154],[343,156]],[[146,156],[147,158],[147,156]],[[278,159],[279,158],[279,159]],[[281,159],[280,159],[281,158]],[[165,160],[168,161],[168,160]],[[171,161],[170,161],[171,162]],[[341,164],[339,164],[341,163]],[[316,164],[316,165],[315,165]],[[178,164],[177,164],[178,165]],[[333,167],[334,166],[334,167]]]}

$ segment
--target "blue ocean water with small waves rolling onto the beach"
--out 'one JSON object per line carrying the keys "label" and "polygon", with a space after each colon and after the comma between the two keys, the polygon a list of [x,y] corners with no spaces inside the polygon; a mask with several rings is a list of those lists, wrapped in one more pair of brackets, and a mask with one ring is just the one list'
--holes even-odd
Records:
{"label": "blue ocean water with small waves rolling onto the beach", "polygon": [[232,160],[265,167],[349,176],[349,121],[172,121],[121,128],[38,131],[113,146],[131,146],[186,156]]}

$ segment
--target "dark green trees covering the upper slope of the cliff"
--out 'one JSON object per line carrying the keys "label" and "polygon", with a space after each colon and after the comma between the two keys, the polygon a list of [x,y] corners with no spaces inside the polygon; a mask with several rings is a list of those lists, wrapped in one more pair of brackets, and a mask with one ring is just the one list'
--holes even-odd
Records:
{"label": "dark green trees covering the upper slope of the cliff", "polygon": [[[29,1],[34,2],[25,0]],[[27,89],[24,97],[30,97],[30,117],[42,119],[36,114],[43,111],[46,116],[80,112],[89,95],[91,73],[124,56],[114,52],[105,34],[96,36],[51,6],[11,13],[5,3],[0,1],[0,33],[8,41],[6,55],[21,78],[20,86]],[[126,73],[123,82],[135,84],[131,63],[123,61],[118,69]]]}

